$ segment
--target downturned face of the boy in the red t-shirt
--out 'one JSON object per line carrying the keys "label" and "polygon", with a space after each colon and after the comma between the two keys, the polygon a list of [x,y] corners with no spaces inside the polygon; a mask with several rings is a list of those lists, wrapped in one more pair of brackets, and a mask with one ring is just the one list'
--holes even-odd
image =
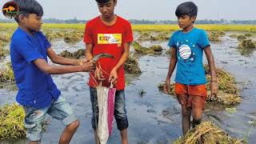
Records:
{"label": "downturned face of the boy in the red t-shirt", "polygon": [[98,3],[98,10],[104,18],[110,18],[114,14],[114,6],[117,5],[117,0],[110,0],[106,3]]}

